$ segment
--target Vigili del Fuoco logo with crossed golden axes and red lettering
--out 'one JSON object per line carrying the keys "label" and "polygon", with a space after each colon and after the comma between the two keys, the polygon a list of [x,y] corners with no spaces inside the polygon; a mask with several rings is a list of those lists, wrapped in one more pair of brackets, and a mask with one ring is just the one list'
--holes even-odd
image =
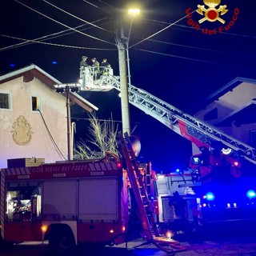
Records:
{"label": "Vigili del Fuoco logo with crossed golden axes and red lettering", "polygon": [[[196,12],[203,16],[194,18],[192,8],[186,9],[187,24],[194,27],[195,30],[202,31],[202,34],[217,34],[226,32],[234,26],[238,20],[239,9],[229,10],[228,6],[221,5],[221,0],[203,0],[204,5],[198,4]],[[227,15],[227,13],[231,14]],[[214,25],[210,25],[210,23]],[[219,25],[220,24],[220,25]],[[214,27],[212,27],[214,26]]]}

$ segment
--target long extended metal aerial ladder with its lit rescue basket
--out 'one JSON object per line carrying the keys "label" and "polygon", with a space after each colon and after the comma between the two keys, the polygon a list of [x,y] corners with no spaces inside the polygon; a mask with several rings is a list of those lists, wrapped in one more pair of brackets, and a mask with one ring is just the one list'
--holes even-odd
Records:
{"label": "long extended metal aerial ladder with its lit rescue basket", "polygon": [[[119,77],[112,74],[113,70],[110,70],[108,74],[102,75],[98,80],[92,82],[90,72],[86,73],[85,70],[81,69],[80,77],[82,77],[83,81],[81,90],[108,91],[115,88],[120,91]],[[231,158],[245,158],[249,162],[256,164],[256,150],[253,147],[224,134],[214,126],[210,126],[190,114],[186,114],[182,110],[146,92],[146,90],[132,85],[129,86],[128,90],[129,102],[132,105],[162,122],[163,125],[190,140],[190,142],[194,142],[199,149],[203,146],[207,149],[221,146],[223,149],[231,150]]]}

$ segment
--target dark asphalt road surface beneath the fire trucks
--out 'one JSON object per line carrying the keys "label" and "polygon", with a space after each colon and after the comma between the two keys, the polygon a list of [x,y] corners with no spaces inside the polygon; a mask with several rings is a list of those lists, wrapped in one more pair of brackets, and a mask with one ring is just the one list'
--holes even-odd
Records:
{"label": "dark asphalt road surface beneath the fire trucks", "polygon": [[[90,251],[80,251],[71,255],[86,256],[162,256],[168,255],[162,250],[158,250],[153,244],[143,244],[142,238],[133,242],[113,247],[98,248]],[[235,238],[214,238],[198,239],[190,242],[180,242],[186,250],[178,252],[177,256],[256,256],[256,236],[239,236]],[[50,252],[47,245],[41,243],[23,243],[15,245],[0,252],[1,256],[48,256]],[[56,255],[54,255],[56,256]]]}

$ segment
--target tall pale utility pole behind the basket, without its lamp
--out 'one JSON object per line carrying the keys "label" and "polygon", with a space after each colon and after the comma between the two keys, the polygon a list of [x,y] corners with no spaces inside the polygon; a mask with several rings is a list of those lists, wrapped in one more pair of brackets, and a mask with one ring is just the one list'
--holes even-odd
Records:
{"label": "tall pale utility pole behind the basket, without its lamp", "polygon": [[118,20],[116,24],[116,43],[118,47],[118,62],[120,76],[120,95],[122,109],[122,132],[130,134],[130,109],[129,109],[129,90],[127,83],[127,66],[126,66],[126,48],[127,38],[124,35],[122,22]]}

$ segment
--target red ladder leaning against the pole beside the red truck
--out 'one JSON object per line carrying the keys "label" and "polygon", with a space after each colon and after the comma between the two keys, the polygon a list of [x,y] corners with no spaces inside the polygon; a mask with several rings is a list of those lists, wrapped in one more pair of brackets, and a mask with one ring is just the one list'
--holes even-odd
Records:
{"label": "red ladder leaning against the pole beside the red truck", "polygon": [[146,243],[153,243],[160,250],[171,255],[186,250],[186,246],[181,246],[179,242],[159,233],[157,223],[154,220],[154,209],[146,189],[146,182],[140,171],[129,135],[119,132],[118,144],[122,157],[126,160],[126,171],[137,202],[138,218],[142,223],[142,238],[146,239]]}

